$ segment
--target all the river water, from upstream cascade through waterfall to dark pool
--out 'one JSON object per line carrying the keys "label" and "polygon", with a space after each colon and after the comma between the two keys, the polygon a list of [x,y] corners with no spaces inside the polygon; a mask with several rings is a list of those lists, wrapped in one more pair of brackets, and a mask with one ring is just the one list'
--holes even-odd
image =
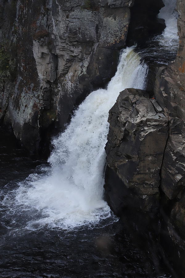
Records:
{"label": "all the river water, from upstream cascade through waterfall to dark pool", "polygon": [[122,50],[107,89],[92,92],[53,141],[49,163],[27,158],[1,129],[0,277],[172,277],[169,264],[130,233],[103,196],[109,109],[125,88],[145,89],[149,55],[163,64],[175,58],[172,2],[159,14],[167,28],[150,41],[154,49]]}

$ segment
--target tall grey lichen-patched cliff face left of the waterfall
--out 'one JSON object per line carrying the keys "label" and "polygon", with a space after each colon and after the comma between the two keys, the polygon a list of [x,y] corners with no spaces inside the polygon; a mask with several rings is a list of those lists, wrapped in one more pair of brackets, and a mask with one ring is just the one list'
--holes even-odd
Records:
{"label": "tall grey lichen-patched cliff face left of the waterfall", "polygon": [[2,55],[13,46],[17,63],[11,82],[2,82],[0,119],[30,154],[113,76],[132,2],[0,1]]}

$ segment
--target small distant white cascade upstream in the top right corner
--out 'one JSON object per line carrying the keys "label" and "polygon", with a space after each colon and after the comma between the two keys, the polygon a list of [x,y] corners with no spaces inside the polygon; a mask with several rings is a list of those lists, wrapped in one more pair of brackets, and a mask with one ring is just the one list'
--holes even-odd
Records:
{"label": "small distant white cascade upstream in the top right corner", "polygon": [[[175,11],[176,0],[163,0],[164,7],[160,10],[159,18],[165,19],[166,28],[161,36],[158,36],[162,47],[174,51],[178,47],[179,37],[177,29],[178,12]],[[175,49],[174,49],[175,48]]]}

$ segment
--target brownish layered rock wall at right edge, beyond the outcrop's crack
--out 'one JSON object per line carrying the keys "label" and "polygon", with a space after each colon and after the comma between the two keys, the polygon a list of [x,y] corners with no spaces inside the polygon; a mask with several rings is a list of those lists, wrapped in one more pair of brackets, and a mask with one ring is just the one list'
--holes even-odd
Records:
{"label": "brownish layered rock wall at right edge, beyond the outcrop's crack", "polygon": [[[161,189],[173,204],[171,221],[185,231],[185,3],[177,1],[179,49],[173,63],[158,70],[154,94],[169,119],[169,137],[161,169]],[[171,201],[170,201],[171,200]],[[170,205],[171,206],[171,205]]]}

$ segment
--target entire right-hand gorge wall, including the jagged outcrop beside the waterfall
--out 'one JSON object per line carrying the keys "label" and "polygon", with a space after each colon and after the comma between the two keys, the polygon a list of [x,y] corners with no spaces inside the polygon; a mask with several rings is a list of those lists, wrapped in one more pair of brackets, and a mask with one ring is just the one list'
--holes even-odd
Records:
{"label": "entire right-hand gorge wall, including the jagged outcrop beside the waterfall", "polygon": [[118,215],[128,210],[133,215],[159,215],[160,242],[170,254],[173,248],[170,256],[181,277],[185,272],[184,1],[177,1],[177,10],[177,57],[157,68],[153,94],[126,89],[109,111],[105,192]]}

